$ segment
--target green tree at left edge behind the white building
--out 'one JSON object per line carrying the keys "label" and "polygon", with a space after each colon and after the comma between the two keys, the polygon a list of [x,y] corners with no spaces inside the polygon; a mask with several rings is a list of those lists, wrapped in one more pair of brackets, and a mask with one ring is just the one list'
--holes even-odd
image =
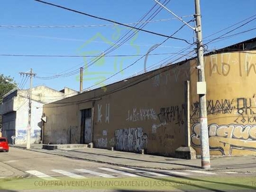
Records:
{"label": "green tree at left edge behind the white building", "polygon": [[[10,76],[6,77],[3,74],[0,74],[0,104],[3,102],[4,94],[10,92],[10,90],[12,90],[13,88],[15,88],[15,82],[13,81],[13,78]],[[1,128],[2,128],[2,116],[0,114],[0,129]]]}

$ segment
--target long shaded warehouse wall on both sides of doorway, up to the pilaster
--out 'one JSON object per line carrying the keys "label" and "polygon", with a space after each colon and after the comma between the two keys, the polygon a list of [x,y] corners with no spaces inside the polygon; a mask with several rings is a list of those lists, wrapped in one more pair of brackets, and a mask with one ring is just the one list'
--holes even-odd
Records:
{"label": "long shaded warehouse wall on both sides of doorway, up to the pilaster", "polygon": [[[80,110],[93,107],[95,147],[174,155],[186,143],[184,81],[188,79],[189,62],[111,84],[105,92],[93,90],[47,104],[44,143],[68,143],[70,127],[77,127],[79,142]],[[92,98],[97,100],[83,102]]]}

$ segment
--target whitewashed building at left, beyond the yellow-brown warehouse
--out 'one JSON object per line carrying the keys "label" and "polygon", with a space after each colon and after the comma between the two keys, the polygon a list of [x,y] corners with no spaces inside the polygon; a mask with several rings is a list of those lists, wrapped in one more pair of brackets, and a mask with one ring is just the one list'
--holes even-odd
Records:
{"label": "whitewashed building at left, beyond the yellow-brown warehouse", "polygon": [[[25,144],[28,130],[28,99],[29,90],[17,88],[6,93],[0,105],[0,114],[3,115],[2,135],[12,142],[11,137],[16,136],[15,144]],[[40,143],[43,129],[43,106],[49,102],[77,95],[69,88],[61,91],[53,90],[47,86],[32,88],[31,95],[31,143]],[[44,118],[43,118],[44,120]]]}

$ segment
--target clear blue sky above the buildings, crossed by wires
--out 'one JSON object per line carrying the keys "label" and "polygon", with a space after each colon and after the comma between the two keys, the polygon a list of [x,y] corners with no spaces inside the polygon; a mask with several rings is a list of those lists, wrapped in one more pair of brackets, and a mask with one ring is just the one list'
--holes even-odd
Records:
{"label": "clear blue sky above the buildings, crossed by wires", "polygon": [[[83,67],[83,89],[92,90],[195,56],[195,31],[154,0],[45,1],[160,35],[34,0],[2,0],[0,74],[13,77],[19,88],[29,88],[28,77],[19,72],[30,68],[33,86],[78,91]],[[194,0],[160,2],[195,27]],[[205,51],[255,37],[255,0],[201,0],[200,6]],[[166,38],[170,35],[179,40]]]}

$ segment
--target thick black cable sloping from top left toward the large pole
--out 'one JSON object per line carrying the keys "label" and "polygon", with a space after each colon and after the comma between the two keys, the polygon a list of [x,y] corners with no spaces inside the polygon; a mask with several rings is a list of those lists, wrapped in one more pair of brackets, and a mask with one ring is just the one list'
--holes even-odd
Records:
{"label": "thick black cable sloping from top left toward the large pole", "polygon": [[108,21],[108,22],[113,22],[113,23],[115,23],[115,24],[119,24],[120,26],[125,26],[125,27],[127,27],[127,28],[136,29],[136,30],[139,30],[139,31],[143,31],[143,32],[146,32],[146,33],[153,34],[153,35],[158,35],[158,36],[173,38],[173,39],[175,39],[175,40],[181,40],[181,41],[186,42],[187,44],[190,44],[187,40],[182,39],[182,38],[177,38],[177,37],[173,37],[173,36],[163,35],[163,34],[160,34],[160,33],[156,33],[156,32],[154,32],[154,31],[148,31],[148,30],[145,30],[145,29],[136,28],[136,27],[133,27],[133,26],[129,26],[129,25],[127,25],[127,24],[122,24],[121,22],[116,22],[115,20],[105,19],[105,18],[103,18],[103,17],[97,17],[97,16],[95,16],[95,15],[90,15],[90,14],[88,14],[88,13],[79,12],[79,11],[73,10],[73,9],[71,9],[71,8],[67,8],[67,7],[64,7],[64,6],[60,6],[60,5],[58,5],[58,4],[47,3],[47,2],[45,2],[45,1],[40,1],[40,0],[34,0],[34,1],[38,1],[38,2],[40,2],[40,3],[44,3],[44,4],[51,5],[51,6],[55,6],[55,7],[61,8],[61,9],[63,9],[63,10],[68,10],[68,11],[70,11],[70,12],[79,13],[79,14],[81,14],[81,15],[86,15],[86,16],[88,16],[88,17],[92,17],[92,18],[95,18],[95,19],[106,20],[106,21]]}

